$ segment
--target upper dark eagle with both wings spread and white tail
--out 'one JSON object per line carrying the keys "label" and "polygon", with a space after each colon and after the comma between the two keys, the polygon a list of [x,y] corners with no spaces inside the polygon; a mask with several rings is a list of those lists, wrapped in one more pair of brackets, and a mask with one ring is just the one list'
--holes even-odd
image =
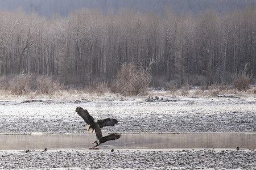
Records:
{"label": "upper dark eagle with both wings spread and white tail", "polygon": [[76,112],[84,119],[86,124],[88,124],[88,126],[86,126],[86,129],[92,133],[95,130],[96,124],[98,124],[100,128],[103,128],[104,126],[114,126],[118,124],[118,121],[115,118],[105,118],[98,121],[94,120],[94,118],[90,116],[89,112],[81,107],[77,107]]}

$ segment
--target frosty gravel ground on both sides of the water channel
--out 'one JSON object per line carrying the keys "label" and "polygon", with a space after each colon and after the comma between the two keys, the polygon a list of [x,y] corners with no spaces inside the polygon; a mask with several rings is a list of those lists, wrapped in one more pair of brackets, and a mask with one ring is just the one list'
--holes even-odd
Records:
{"label": "frosty gravel ground on both sides of the water channel", "polygon": [[[159,97],[161,99],[161,97]],[[255,132],[256,98],[99,97],[94,100],[52,99],[22,103],[0,101],[0,133],[86,133],[80,106],[96,119],[117,118],[103,133]],[[167,101],[167,100],[168,101]],[[253,169],[254,150],[50,150],[0,151],[0,169]]]}

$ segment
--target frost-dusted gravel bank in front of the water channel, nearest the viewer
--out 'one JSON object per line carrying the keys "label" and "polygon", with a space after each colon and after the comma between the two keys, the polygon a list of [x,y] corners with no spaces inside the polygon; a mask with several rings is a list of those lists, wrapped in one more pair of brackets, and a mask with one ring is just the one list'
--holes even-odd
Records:
{"label": "frost-dusted gravel bank in front of the water channel, nearest the viewer", "polygon": [[254,169],[256,151],[97,150],[0,151],[0,169]]}

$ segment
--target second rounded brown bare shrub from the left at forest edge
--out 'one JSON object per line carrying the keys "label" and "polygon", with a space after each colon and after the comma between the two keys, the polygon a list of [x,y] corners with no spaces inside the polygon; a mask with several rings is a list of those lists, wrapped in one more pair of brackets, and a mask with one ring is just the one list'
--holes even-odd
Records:
{"label": "second rounded brown bare shrub from the left at forest edge", "polygon": [[49,95],[52,97],[56,91],[62,89],[59,80],[53,80],[52,76],[40,75],[35,80],[36,94]]}

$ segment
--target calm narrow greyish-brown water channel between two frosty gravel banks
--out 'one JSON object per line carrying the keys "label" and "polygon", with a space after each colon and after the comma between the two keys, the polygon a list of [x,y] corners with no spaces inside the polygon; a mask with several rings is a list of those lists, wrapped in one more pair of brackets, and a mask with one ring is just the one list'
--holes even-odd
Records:
{"label": "calm narrow greyish-brown water channel between two frosty gravel banks", "polygon": [[[60,149],[92,147],[96,135],[0,134],[0,150]],[[256,133],[123,133],[100,148],[256,148]]]}

